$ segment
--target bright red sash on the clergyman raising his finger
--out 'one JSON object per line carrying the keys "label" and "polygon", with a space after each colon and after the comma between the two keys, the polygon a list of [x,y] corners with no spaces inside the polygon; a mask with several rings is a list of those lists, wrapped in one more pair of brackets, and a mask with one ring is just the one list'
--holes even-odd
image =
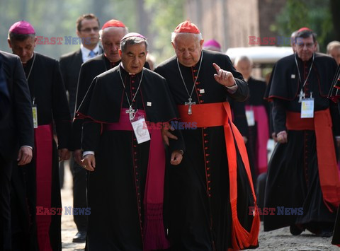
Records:
{"label": "bright red sash on the clergyman raising his finger", "polygon": [[[246,153],[246,146],[242,135],[237,127],[232,123],[232,112],[228,102],[208,103],[203,105],[193,105],[191,107],[193,114],[188,115],[188,105],[179,105],[179,114],[181,122],[197,122],[197,127],[217,127],[223,126],[225,130],[225,145],[227,148],[227,158],[229,165],[229,193],[230,204],[232,209],[232,247],[234,250],[244,249],[249,246],[258,244],[260,230],[259,211],[256,206],[256,196],[254,192],[253,181],[249,168],[249,160]],[[236,140],[237,146],[234,144]],[[237,217],[237,151],[242,156],[242,161],[246,168],[251,192],[254,197],[254,219],[251,225],[250,233],[243,228]]]}

